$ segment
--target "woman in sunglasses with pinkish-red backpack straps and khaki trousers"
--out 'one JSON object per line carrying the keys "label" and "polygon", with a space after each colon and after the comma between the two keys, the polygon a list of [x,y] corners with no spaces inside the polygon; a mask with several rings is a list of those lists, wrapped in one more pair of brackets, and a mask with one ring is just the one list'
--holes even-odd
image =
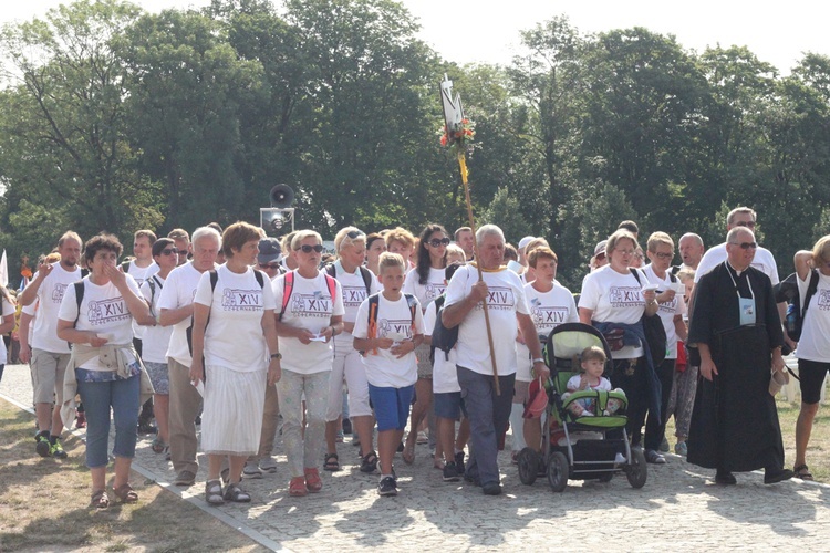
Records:
{"label": "woman in sunglasses with pinkish-red backpack straps and khaki trousers", "polygon": [[[323,488],[318,465],[325,437],[333,352],[332,337],[343,332],[343,292],[340,283],[320,271],[323,239],[300,230],[291,240],[297,269],[273,281],[277,332],[282,337],[282,378],[277,396],[282,413],[291,482],[289,494],[303,497]],[[302,431],[303,397],[305,432]]]}

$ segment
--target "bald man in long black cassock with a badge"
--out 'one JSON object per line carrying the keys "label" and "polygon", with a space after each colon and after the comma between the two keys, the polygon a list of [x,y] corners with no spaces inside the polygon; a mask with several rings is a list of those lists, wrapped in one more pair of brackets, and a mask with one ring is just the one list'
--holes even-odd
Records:
{"label": "bald man in long black cassock with a badge", "polygon": [[701,353],[701,376],[688,436],[688,461],[716,469],[719,484],[733,472],[765,469],[764,483],[792,478],[784,445],[771,369],[784,371],[784,334],[769,276],[749,264],[757,243],[736,227],[726,237],[727,260],[695,288],[689,345]]}

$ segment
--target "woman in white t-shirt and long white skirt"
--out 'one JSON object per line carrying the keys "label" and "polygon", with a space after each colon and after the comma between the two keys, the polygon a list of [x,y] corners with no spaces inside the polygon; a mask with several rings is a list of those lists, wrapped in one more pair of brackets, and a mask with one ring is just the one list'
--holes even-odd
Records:
{"label": "woman in white t-shirt and long white skirt", "polygon": [[[201,447],[208,456],[209,504],[251,500],[239,486],[242,468],[259,449],[266,384],[280,379],[273,291],[268,276],[251,267],[260,238],[259,229],[247,222],[225,229],[226,262],[201,274],[194,298],[190,378],[205,383]],[[222,490],[226,457],[230,472]]]}

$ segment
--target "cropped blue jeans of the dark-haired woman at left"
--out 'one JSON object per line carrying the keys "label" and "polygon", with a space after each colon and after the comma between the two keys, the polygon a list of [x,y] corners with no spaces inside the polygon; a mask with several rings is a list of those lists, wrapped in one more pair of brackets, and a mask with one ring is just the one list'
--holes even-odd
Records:
{"label": "cropped blue jeans of the dark-haired woman at left", "polygon": [[135,457],[137,438],[141,376],[124,380],[77,380],[77,392],[86,413],[86,466],[91,469],[106,467],[110,439],[110,409],[115,421],[113,455]]}

